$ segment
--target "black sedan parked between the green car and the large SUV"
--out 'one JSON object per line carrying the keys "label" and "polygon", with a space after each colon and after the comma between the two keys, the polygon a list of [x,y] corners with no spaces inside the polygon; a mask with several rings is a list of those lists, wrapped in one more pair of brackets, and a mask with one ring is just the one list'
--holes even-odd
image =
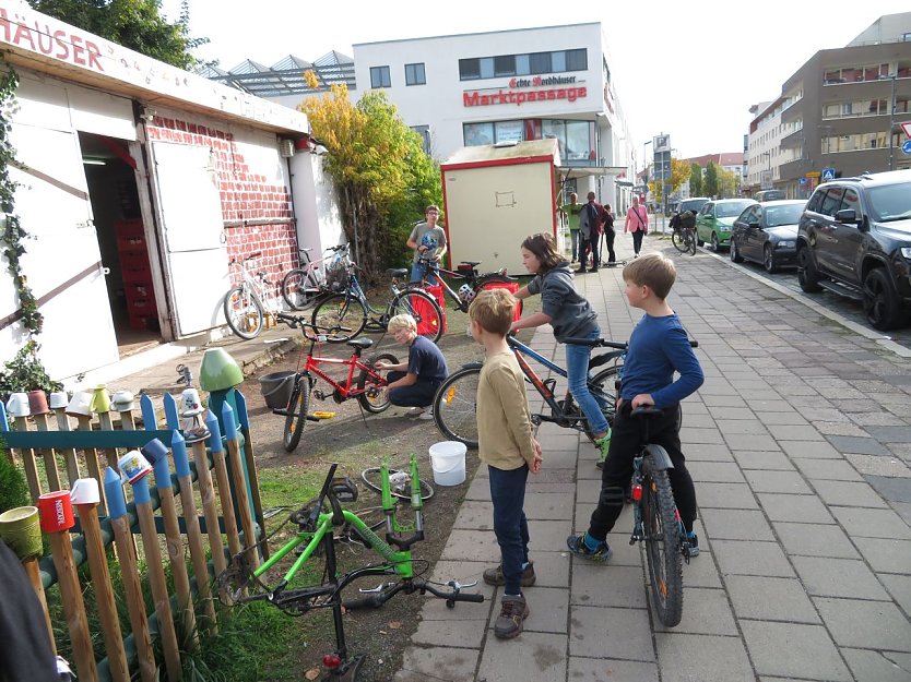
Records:
{"label": "black sedan parked between the green car and the large SUV", "polygon": [[759,263],[766,272],[797,264],[797,224],[806,202],[768,201],[747,206],[734,220],[731,260]]}

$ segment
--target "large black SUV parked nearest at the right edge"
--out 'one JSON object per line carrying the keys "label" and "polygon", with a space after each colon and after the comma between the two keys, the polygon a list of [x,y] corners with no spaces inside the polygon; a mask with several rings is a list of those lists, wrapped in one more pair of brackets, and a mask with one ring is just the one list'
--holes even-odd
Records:
{"label": "large black SUV parked nearest at the right edge", "polygon": [[911,169],[842,178],[816,188],[797,231],[804,291],[863,302],[869,324],[890,330],[911,306]]}

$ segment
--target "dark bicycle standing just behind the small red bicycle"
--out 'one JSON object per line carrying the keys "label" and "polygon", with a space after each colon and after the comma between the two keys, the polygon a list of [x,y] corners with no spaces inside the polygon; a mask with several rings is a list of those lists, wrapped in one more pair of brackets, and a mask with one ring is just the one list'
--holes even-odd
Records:
{"label": "dark bicycle standing just behind the small red bicycle", "polygon": [[399,278],[407,276],[407,268],[386,271],[392,277],[390,297],[386,309],[378,310],[367,300],[355,274],[356,267],[354,263],[350,265],[343,292],[323,297],[313,309],[312,323],[333,330],[327,335],[328,343],[345,343],[365,330],[384,333],[389,321],[400,313],[414,318],[421,336],[435,343],[439,340],[443,331],[443,316],[437,299],[423,289],[399,286]]}

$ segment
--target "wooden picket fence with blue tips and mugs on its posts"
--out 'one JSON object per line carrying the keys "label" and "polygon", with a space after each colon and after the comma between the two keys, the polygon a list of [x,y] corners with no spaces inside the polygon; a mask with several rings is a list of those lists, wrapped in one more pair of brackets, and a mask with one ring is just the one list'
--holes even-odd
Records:
{"label": "wooden picket fence with blue tips and mugs on its posts", "polygon": [[[141,396],[139,402],[142,428],[138,428],[132,410],[104,411],[97,414],[97,421],[94,417],[78,417],[73,428],[72,418],[61,408],[54,410],[56,429],[51,415],[16,417],[14,429],[10,429],[0,405],[2,438],[12,460],[24,468],[36,506],[39,495],[67,490],[79,478],[96,479],[102,492],[97,505],[75,505],[79,522],[74,528],[49,534],[49,554],[23,560],[44,607],[55,649],[45,590],[55,584],[59,586],[80,680],[129,682],[131,671],[138,670],[142,682],[154,682],[159,662],[168,680],[179,680],[177,633],[190,633],[194,637],[200,631],[217,630],[213,577],[227,566],[226,557],[248,551],[248,559],[255,565],[261,557],[258,549],[262,548],[251,549],[255,542],[249,540],[261,537],[264,521],[244,395],[236,388],[213,392],[205,419],[212,435],[208,441],[192,443],[187,443],[181,435],[173,396],[165,395],[163,399],[164,428],[158,427],[149,396]],[[154,488],[150,487],[151,476],[134,483],[121,483],[119,457],[153,439],[170,451],[169,457],[154,466]],[[201,501],[201,513],[197,499]],[[143,565],[139,564],[134,535],[141,540]],[[174,594],[168,591],[162,538]],[[108,570],[109,554],[114,553],[122,575],[119,596],[127,605],[132,631],[126,636],[121,632],[116,588]],[[100,660],[96,660],[93,650],[78,573],[84,563],[88,564],[104,637],[106,657]],[[141,569],[145,571],[143,576]],[[154,613],[151,614],[143,599],[143,578],[152,588]],[[175,626],[175,619],[180,627]],[[163,661],[155,659],[153,636],[161,641]],[[193,645],[191,639],[189,646]],[[184,646],[188,646],[187,642]]]}

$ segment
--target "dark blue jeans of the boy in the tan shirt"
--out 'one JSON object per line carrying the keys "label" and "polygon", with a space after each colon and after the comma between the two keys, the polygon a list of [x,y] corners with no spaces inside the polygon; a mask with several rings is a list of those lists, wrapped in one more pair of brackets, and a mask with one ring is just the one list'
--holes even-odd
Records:
{"label": "dark blue jeans of the boy in the tan shirt", "polygon": [[522,594],[522,564],[529,560],[529,522],[525,504],[525,481],[529,467],[498,469],[487,466],[490,475],[490,500],[494,502],[494,535],[502,555],[504,594]]}

